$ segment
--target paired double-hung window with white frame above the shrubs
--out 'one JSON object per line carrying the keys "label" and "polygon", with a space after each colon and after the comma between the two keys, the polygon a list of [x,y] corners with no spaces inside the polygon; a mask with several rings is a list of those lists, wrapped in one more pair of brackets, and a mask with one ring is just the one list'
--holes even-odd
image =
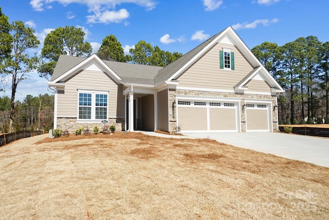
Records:
{"label": "paired double-hung window with white frame above the shrubs", "polygon": [[107,119],[108,93],[79,91],[78,97],[78,120]]}

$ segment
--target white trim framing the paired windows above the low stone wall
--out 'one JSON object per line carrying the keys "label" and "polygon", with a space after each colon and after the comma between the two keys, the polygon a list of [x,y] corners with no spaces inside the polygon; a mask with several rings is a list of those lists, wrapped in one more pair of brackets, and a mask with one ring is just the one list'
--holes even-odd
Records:
{"label": "white trim framing the paired windows above the low stone wall", "polygon": [[[77,102],[77,122],[89,122],[89,123],[96,123],[101,122],[102,120],[108,119],[108,97],[109,91],[108,90],[96,90],[96,89],[77,89],[78,90],[78,102]],[[79,119],[79,94],[81,93],[89,93],[92,94],[92,116],[90,119]],[[96,94],[107,95],[107,106],[106,106],[106,119],[96,119]],[[89,106],[86,106],[89,107]],[[105,106],[101,106],[105,107]]]}

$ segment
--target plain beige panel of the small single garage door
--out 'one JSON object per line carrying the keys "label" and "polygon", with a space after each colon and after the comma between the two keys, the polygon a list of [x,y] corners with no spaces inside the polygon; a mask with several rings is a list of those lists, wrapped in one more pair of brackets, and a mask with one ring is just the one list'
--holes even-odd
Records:
{"label": "plain beige panel of the small single garage door", "polygon": [[247,109],[247,130],[268,130],[267,109]]}

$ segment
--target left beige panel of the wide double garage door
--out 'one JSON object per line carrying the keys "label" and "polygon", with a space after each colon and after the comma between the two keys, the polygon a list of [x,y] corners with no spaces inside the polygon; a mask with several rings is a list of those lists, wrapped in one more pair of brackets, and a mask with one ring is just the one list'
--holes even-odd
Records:
{"label": "left beige panel of the wide double garage door", "polygon": [[178,124],[182,131],[207,130],[207,108],[178,107]]}

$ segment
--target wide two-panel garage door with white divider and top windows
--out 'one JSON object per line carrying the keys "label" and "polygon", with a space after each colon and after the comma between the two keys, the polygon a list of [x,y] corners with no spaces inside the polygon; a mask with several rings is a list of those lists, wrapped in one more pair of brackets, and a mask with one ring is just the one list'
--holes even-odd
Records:
{"label": "wide two-panel garage door with white divider and top windows", "polygon": [[237,132],[239,102],[178,100],[182,132]]}

